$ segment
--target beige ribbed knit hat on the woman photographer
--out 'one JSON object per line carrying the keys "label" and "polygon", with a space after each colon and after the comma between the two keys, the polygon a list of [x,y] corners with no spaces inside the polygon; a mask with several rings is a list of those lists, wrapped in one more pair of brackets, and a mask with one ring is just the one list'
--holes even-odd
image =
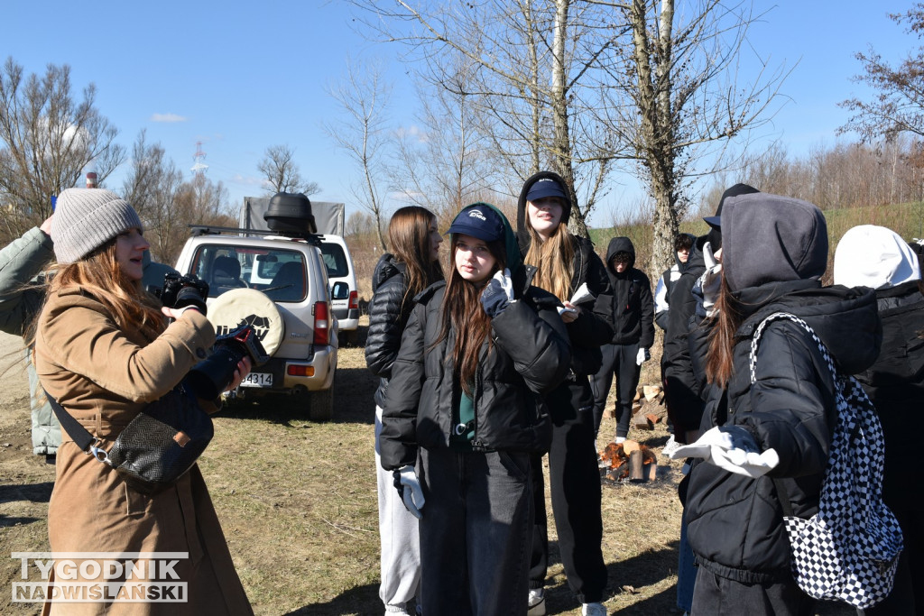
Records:
{"label": "beige ribbed knit hat on the woman photographer", "polygon": [[52,241],[58,263],[73,263],[123,231],[144,230],[128,201],[103,188],[67,188],[58,195]]}

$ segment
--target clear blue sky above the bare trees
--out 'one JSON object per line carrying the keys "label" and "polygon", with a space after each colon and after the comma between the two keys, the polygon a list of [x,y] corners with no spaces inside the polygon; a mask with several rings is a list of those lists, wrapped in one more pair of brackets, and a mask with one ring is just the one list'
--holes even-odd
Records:
{"label": "clear blue sky above the bare trees", "polygon": [[[355,209],[349,186],[357,172],[322,131],[322,121],[338,113],[324,85],[344,74],[349,56],[387,63],[393,110],[404,114],[395,114],[395,128],[414,121],[413,88],[396,59],[398,48],[366,42],[350,27],[353,9],[336,0],[5,5],[4,60],[11,55],[30,73],[48,63],[70,65],[75,90],[96,84],[97,107],[127,148],[146,128],[149,142],[159,141],[188,171],[201,141],[208,175],[224,182],[236,205],[261,194],[257,164],[265,149],[288,144],[302,175],[322,187],[312,199],[344,201],[347,213]],[[837,103],[868,93],[850,80],[860,68],[853,55],[872,44],[897,60],[918,45],[886,17],[908,6],[888,0],[756,2],[757,10],[769,12],[751,31],[753,47],[771,64],[798,63],[782,89],[788,100],[763,131],[767,139],[781,139],[796,155],[832,146],[847,118]],[[634,198],[634,182],[620,179],[626,187],[611,193],[591,223],[609,223],[610,211]],[[108,187],[120,186],[116,173]]]}

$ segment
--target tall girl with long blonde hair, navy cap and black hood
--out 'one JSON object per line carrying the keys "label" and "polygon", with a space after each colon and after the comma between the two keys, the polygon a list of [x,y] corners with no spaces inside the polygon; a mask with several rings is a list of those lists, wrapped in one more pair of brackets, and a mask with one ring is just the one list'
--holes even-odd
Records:
{"label": "tall girl with long blonde hair, navy cap and black hood", "polygon": [[[571,341],[569,379],[546,399],[552,414],[549,484],[568,585],[584,604],[584,614],[605,614],[603,525],[600,472],[594,448],[593,392],[590,375],[602,364],[601,345],[613,339],[613,290],[593,244],[567,230],[571,199],[559,175],[543,171],[530,177],[520,192],[517,236],[520,252],[537,268],[533,284],[551,292],[568,311],[562,313]],[[570,299],[587,285],[587,296]],[[536,527],[529,572],[529,614],[544,614],[543,590],[548,563],[544,481],[541,456],[533,460]]]}

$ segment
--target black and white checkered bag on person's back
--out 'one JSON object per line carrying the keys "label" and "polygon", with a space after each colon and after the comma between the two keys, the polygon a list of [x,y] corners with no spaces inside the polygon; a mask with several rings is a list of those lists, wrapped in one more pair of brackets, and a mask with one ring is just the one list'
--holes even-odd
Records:
{"label": "black and white checkered bag on person's back", "polygon": [[786,312],[767,317],[754,332],[751,383],[760,335],[768,323],[781,319],[801,325],[819,345],[833,374],[838,415],[818,513],[808,520],[793,515],[783,482],[773,482],[783,505],[793,576],[811,597],[869,608],[892,592],[903,547],[898,521],[882,502],[885,446],[879,417],[859,382],[834,368],[827,347],[808,323]]}

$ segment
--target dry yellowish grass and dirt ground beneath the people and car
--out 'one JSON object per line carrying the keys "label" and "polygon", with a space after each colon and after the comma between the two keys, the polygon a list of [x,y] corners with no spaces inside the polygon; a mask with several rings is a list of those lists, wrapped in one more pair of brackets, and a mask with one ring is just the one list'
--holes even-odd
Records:
{"label": "dry yellowish grass and dirt ground beneath the people and car", "polygon": [[[360,332],[359,344],[362,338]],[[55,469],[31,453],[28,383],[19,348],[18,338],[0,333],[0,613],[36,614],[34,605],[11,603],[19,566],[5,555],[49,550],[45,518]],[[236,406],[216,417],[215,438],[200,465],[256,613],[382,613],[372,454],[375,385],[361,346],[347,347],[340,351],[334,381],[333,421],[310,423],[300,409],[285,405]],[[601,433],[613,431],[613,420],[604,419]],[[656,449],[667,440],[663,428],[630,436]],[[611,613],[678,613],[680,464],[663,456],[659,463],[654,482],[603,488]],[[547,510],[551,516],[551,503]],[[579,614],[551,519],[549,529],[548,613]]]}

